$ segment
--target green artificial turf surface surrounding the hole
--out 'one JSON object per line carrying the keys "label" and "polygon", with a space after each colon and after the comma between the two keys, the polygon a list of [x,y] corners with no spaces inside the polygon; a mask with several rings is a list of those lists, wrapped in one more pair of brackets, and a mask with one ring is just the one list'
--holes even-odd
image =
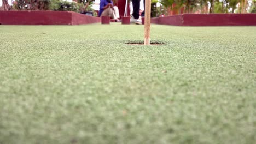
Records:
{"label": "green artificial turf surface surrounding the hole", "polygon": [[256,27],[0,26],[0,143],[254,143]]}

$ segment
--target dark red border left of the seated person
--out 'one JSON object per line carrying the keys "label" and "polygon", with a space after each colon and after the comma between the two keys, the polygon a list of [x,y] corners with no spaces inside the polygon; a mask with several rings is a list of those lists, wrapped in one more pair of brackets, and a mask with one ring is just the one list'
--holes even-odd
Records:
{"label": "dark red border left of the seated person", "polygon": [[101,22],[72,11],[0,11],[2,25],[80,25]]}

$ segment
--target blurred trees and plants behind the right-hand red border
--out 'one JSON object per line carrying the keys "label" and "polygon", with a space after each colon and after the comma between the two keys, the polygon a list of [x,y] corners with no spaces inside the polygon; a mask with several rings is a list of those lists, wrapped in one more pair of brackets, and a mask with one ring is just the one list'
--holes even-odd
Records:
{"label": "blurred trees and plants behind the right-hand red border", "polygon": [[256,0],[159,0],[160,13],[256,13]]}

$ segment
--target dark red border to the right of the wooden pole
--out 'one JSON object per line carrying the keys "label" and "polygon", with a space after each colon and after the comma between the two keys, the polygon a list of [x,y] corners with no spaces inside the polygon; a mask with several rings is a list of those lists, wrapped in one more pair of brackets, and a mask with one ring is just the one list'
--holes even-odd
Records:
{"label": "dark red border to the right of the wooden pole", "polygon": [[256,26],[256,14],[181,14],[151,21],[173,26]]}

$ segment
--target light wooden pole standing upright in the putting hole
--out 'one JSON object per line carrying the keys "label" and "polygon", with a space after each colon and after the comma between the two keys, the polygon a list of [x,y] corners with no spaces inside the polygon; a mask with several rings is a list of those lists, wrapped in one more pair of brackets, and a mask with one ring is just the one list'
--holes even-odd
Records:
{"label": "light wooden pole standing upright in the putting hole", "polygon": [[150,11],[151,0],[145,0],[144,45],[150,44]]}

